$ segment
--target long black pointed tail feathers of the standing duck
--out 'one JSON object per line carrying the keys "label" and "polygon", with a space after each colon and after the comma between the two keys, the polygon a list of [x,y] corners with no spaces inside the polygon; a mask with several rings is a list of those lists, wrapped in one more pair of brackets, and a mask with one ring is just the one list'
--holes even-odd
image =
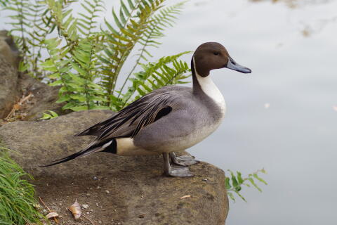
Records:
{"label": "long black pointed tail feathers of the standing duck", "polygon": [[51,161],[51,164],[48,165],[41,165],[39,167],[51,167],[53,165],[58,165],[62,162],[67,162],[70,160],[74,160],[74,158],[81,158],[86,155],[90,155],[91,153],[98,153],[98,152],[107,152],[107,153],[117,153],[117,141],[115,139],[105,141],[105,143],[99,143],[98,144],[91,144],[87,148],[84,148],[84,150],[80,150],[77,153],[74,153],[72,155],[68,155],[65,158]]}

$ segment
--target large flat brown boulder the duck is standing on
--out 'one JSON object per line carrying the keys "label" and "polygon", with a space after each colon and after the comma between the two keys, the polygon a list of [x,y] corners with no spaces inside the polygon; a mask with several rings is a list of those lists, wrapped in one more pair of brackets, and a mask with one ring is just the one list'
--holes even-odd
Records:
{"label": "large flat brown boulder the duck is standing on", "polygon": [[[89,110],[48,121],[4,124],[0,145],[19,153],[13,153],[13,158],[34,176],[37,195],[46,205],[55,201],[71,205],[77,199],[81,205],[94,206],[91,220],[96,223],[225,224],[225,174],[205,162],[192,165],[195,176],[188,178],[163,176],[160,155],[98,153],[53,167],[38,167],[84,148],[93,137],[73,135],[110,115],[107,110]],[[184,195],[191,197],[180,199]],[[58,204],[53,207],[55,212],[64,211]],[[62,215],[62,220],[74,221],[70,213]]]}

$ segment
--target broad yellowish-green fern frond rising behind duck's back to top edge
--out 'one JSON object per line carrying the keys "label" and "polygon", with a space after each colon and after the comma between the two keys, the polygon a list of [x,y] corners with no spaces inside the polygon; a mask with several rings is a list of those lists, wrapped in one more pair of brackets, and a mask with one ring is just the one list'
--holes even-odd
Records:
{"label": "broad yellowish-green fern frond rising behind duck's back to top edge", "polygon": [[[101,55],[100,59],[103,63],[102,84],[109,98],[114,94],[117,77],[126,58],[147,30],[147,25],[150,23],[154,12],[163,6],[164,0],[138,0],[135,1],[135,4],[132,1],[128,1],[128,3],[129,8],[126,8],[125,4],[121,5],[120,18],[117,17],[114,10],[112,11],[119,32],[106,22],[109,31],[105,31],[105,33],[110,33],[110,35],[108,35],[105,54]],[[136,13],[136,17],[132,17],[133,13]]]}

